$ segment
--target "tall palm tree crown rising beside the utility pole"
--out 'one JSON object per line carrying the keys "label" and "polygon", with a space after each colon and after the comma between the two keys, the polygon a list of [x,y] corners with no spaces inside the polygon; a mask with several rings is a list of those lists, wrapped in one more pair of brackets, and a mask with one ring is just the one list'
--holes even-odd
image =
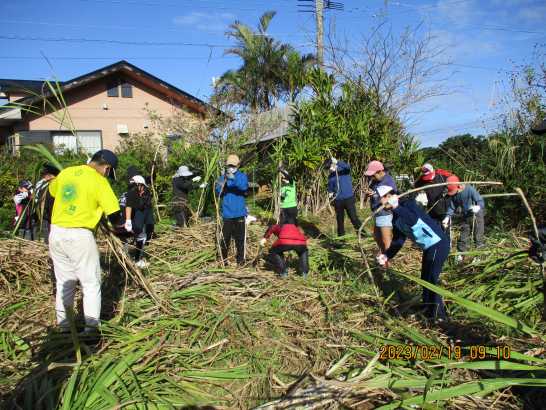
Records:
{"label": "tall palm tree crown rising beside the utility pole", "polygon": [[303,87],[303,70],[314,62],[293,47],[273,39],[267,29],[274,11],[260,17],[257,30],[236,21],[226,34],[236,40],[226,54],[237,55],[243,64],[226,71],[215,84],[213,99],[238,104],[252,112],[270,110],[280,100],[293,101]]}

